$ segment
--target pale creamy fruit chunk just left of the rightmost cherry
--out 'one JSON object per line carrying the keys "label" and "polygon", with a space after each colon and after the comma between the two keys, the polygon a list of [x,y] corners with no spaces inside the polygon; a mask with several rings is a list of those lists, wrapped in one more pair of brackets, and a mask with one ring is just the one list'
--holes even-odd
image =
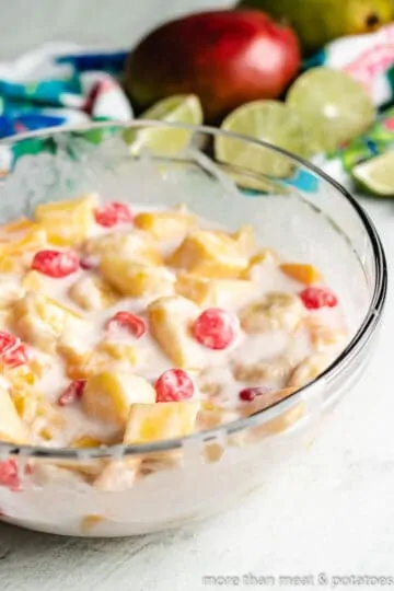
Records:
{"label": "pale creamy fruit chunk just left of the rightmost cherry", "polygon": [[241,313],[241,325],[246,333],[283,329],[292,332],[305,315],[301,300],[285,292],[267,293]]}

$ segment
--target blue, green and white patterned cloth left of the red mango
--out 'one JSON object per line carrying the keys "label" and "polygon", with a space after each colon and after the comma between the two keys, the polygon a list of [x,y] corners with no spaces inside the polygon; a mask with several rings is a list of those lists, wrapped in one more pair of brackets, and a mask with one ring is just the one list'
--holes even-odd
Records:
{"label": "blue, green and white patterned cloth left of the red mango", "polygon": [[0,63],[0,139],[66,124],[132,118],[118,82],[126,55],[48,44]]}

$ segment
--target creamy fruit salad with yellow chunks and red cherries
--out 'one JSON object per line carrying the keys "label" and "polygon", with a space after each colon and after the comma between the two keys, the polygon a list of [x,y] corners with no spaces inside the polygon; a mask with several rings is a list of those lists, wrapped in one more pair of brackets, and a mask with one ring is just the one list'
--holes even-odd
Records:
{"label": "creamy fruit salad with yellow chunks and red cherries", "polygon": [[[15,444],[189,436],[286,397],[347,343],[318,269],[183,206],[39,205],[0,228],[0,440]],[[97,488],[118,477],[116,463],[89,474]]]}

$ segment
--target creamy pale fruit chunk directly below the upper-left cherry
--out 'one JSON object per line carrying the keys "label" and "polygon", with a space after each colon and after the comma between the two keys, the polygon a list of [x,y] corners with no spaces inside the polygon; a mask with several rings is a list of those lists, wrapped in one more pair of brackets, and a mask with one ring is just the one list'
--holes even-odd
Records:
{"label": "creamy pale fruit chunk directly below the upper-left cherry", "polygon": [[50,350],[57,339],[81,340],[86,323],[71,310],[50,298],[28,291],[12,306],[18,335],[26,343]]}

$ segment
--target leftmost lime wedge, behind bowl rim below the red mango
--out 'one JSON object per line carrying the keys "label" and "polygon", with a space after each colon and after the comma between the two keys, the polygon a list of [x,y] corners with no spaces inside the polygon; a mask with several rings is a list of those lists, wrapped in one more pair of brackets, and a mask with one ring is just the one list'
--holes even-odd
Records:
{"label": "leftmost lime wedge, behind bowl rim below the red mango", "polygon": [[[176,94],[154,104],[139,118],[201,125],[204,117],[198,96]],[[130,146],[132,153],[139,153],[142,148],[149,148],[154,153],[166,155],[181,152],[188,144],[192,134],[185,129],[142,126],[137,129],[126,129],[124,139]]]}

